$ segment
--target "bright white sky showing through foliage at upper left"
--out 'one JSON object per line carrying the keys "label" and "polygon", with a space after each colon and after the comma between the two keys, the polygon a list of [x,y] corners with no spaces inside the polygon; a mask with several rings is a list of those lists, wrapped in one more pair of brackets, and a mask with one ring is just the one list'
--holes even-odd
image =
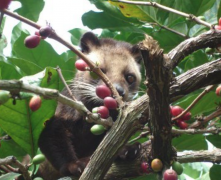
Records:
{"label": "bright white sky showing through foliage at upper left", "polygon": [[[20,6],[19,2],[12,1],[10,10],[17,9]],[[89,30],[87,27],[83,26],[81,16],[90,10],[98,11],[96,7],[89,2],[89,0],[45,0],[44,9],[40,14],[37,23],[45,25],[46,21],[49,22],[56,33],[62,36],[65,40],[70,41],[70,35],[68,33],[69,30],[74,28]],[[11,36],[12,28],[17,23],[17,20],[11,17],[7,18],[3,34],[7,37],[8,42],[10,42],[9,37]],[[23,27],[33,34],[36,31],[35,28],[28,25],[24,25]],[[54,40],[47,38],[47,41],[53,45],[58,53],[62,53],[67,50],[63,45],[60,45]],[[9,55],[9,53],[10,49],[6,48],[5,54]]]}

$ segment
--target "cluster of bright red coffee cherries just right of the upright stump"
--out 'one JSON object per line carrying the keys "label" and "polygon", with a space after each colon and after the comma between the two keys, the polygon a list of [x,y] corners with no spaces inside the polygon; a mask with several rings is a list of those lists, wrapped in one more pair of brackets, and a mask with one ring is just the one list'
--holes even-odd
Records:
{"label": "cluster of bright red coffee cherries just right of the upright stump", "polygon": [[[170,106],[170,113],[172,117],[180,115],[183,111],[184,109],[181,108],[180,106]],[[187,112],[180,119],[176,120],[175,125],[178,126],[180,129],[187,129],[188,124],[186,123],[186,121],[190,119],[191,119],[191,113]]]}

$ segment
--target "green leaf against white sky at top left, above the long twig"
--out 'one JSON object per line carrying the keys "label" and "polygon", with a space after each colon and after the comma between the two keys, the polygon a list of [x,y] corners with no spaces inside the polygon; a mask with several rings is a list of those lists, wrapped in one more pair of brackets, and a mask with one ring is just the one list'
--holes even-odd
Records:
{"label": "green leaf against white sky at top left, above the long twig", "polygon": [[39,14],[42,11],[45,2],[43,0],[17,0],[22,4],[22,7],[15,10],[18,14],[32,20],[37,21]]}

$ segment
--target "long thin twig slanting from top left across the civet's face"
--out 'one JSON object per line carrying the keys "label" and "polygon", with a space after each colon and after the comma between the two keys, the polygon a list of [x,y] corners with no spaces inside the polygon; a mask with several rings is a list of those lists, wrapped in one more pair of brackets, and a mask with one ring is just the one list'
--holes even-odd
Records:
{"label": "long thin twig slanting from top left across the civet's face", "polygon": [[[38,25],[37,23],[24,18],[20,15],[14,14],[10,11],[8,11],[7,9],[3,9],[1,10],[1,12],[5,13],[8,16],[11,16],[15,19],[18,19],[32,27],[35,27],[37,29],[40,29],[41,26]],[[76,55],[78,55],[81,59],[83,59],[88,66],[90,67],[90,69],[95,72],[103,81],[104,83],[110,88],[113,96],[115,97],[116,101],[118,102],[119,106],[123,106],[123,101],[121,96],[119,95],[118,91],[116,90],[116,88],[113,86],[113,84],[110,82],[110,80],[108,79],[108,77],[101,71],[101,69],[99,67],[97,67],[95,65],[95,63],[93,61],[91,61],[84,53],[82,53],[81,51],[79,51],[77,48],[75,48],[72,44],[70,44],[69,42],[65,41],[62,37],[60,37],[59,35],[56,34],[55,31],[53,31],[51,33],[51,35],[49,36],[49,38],[52,38],[58,42],[60,42],[61,44],[63,44],[64,46],[66,46],[67,48],[69,48],[71,51],[73,51]]]}

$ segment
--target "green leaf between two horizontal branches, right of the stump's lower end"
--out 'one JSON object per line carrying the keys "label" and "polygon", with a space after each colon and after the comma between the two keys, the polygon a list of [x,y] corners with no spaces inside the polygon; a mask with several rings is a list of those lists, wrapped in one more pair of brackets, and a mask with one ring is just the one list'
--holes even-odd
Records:
{"label": "green leaf between two horizontal branches, right of the stump's lower end", "polygon": [[173,138],[172,144],[178,151],[207,149],[205,137],[201,134],[181,135]]}

